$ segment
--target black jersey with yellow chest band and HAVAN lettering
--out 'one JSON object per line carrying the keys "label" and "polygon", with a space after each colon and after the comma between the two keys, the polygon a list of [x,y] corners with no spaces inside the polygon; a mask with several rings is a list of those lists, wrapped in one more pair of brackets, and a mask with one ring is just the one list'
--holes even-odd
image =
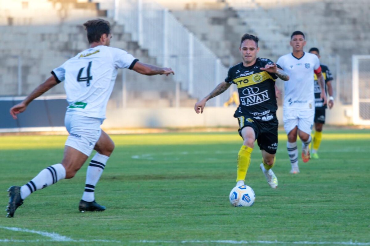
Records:
{"label": "black jersey with yellow chest band and HAVAN lettering", "polygon": [[[243,62],[232,66],[225,79],[237,86],[240,104],[234,117],[248,116],[258,121],[276,119],[276,74],[260,70],[266,64],[273,64],[270,59],[257,58],[252,66],[243,66]],[[278,68],[281,68],[277,65]]]}

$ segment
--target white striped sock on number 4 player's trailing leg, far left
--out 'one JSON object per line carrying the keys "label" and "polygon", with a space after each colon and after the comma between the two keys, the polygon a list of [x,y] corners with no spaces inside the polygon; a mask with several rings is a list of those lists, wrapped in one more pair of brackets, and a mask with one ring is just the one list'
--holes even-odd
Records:
{"label": "white striped sock on number 4 player's trailing leg, far left", "polygon": [[45,168],[30,182],[21,187],[21,198],[26,199],[32,192],[46,188],[65,178],[65,168],[62,164],[55,164]]}

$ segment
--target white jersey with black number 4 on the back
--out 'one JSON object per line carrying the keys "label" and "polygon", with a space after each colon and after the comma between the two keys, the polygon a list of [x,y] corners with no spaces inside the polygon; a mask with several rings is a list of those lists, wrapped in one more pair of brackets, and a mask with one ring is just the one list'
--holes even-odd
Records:
{"label": "white jersey with black number 4 on the back", "polygon": [[126,51],[100,45],[86,49],[51,73],[64,81],[67,115],[105,119],[118,68],[132,69],[138,59]]}

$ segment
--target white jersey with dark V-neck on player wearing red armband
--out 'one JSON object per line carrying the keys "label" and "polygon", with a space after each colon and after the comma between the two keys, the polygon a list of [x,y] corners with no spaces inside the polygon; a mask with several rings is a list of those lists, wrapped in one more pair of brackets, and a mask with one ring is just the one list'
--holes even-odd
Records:
{"label": "white jersey with dark V-neck on player wearing red armband", "polygon": [[303,57],[296,58],[292,53],[280,57],[279,64],[289,75],[285,81],[283,109],[315,109],[314,70],[320,67],[319,58],[304,52]]}

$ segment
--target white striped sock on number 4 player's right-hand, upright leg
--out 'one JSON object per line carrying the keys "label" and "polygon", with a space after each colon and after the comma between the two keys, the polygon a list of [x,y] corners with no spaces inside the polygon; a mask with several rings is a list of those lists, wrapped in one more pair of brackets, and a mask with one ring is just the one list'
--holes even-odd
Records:
{"label": "white striped sock on number 4 player's right-hand, upright leg", "polygon": [[95,156],[92,157],[86,172],[85,191],[82,195],[84,201],[92,202],[95,200],[95,185],[99,181],[108,159],[109,156],[104,156],[99,153],[96,153]]}

